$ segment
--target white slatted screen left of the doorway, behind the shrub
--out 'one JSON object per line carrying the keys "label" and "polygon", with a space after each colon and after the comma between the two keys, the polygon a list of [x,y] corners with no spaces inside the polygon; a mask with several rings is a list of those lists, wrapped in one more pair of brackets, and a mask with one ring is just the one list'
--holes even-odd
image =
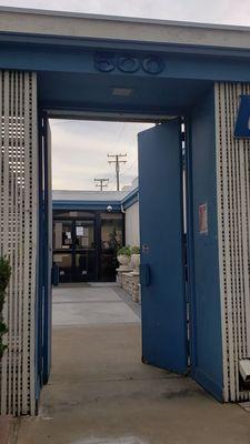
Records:
{"label": "white slatted screen left of the doorway, behind the shrub", "polygon": [[0,72],[0,253],[12,275],[1,369],[1,413],[34,413],[34,303],[38,235],[37,79]]}

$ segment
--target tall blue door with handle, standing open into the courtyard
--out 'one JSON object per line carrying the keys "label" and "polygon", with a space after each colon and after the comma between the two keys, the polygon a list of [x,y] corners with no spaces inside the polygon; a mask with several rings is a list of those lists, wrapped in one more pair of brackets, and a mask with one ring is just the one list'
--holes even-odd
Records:
{"label": "tall blue door with handle, standing open into the courtyard", "polygon": [[180,121],[138,134],[142,360],[187,372]]}

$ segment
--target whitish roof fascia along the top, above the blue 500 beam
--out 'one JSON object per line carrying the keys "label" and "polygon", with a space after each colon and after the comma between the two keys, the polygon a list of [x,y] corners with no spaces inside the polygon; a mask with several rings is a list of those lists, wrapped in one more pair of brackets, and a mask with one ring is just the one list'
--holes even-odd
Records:
{"label": "whitish roof fascia along the top, above the blue 500 beam", "polygon": [[250,28],[0,7],[0,32],[250,49]]}

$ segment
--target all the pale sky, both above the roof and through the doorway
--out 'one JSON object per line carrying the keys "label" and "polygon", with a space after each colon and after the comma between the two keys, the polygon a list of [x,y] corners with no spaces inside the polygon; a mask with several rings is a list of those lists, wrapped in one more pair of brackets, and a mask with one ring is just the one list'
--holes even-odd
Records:
{"label": "all the pale sky, both above the roof and through the doorway", "polygon": [[[250,26],[250,0],[16,0],[1,6]],[[54,189],[94,189],[96,176],[109,178],[114,189],[108,152],[128,153],[122,184],[137,175],[137,132],[143,125],[52,121],[51,128]]]}

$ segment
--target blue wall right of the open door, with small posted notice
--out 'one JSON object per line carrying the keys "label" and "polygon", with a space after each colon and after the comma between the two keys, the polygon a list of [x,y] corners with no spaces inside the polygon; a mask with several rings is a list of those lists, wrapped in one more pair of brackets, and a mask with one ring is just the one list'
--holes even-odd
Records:
{"label": "blue wall right of the open door, with small posted notice", "polygon": [[[218,260],[216,134],[213,88],[192,110],[193,294],[192,374],[222,400],[221,307]],[[190,165],[189,165],[190,167]],[[199,230],[199,205],[208,205],[208,233]]]}

